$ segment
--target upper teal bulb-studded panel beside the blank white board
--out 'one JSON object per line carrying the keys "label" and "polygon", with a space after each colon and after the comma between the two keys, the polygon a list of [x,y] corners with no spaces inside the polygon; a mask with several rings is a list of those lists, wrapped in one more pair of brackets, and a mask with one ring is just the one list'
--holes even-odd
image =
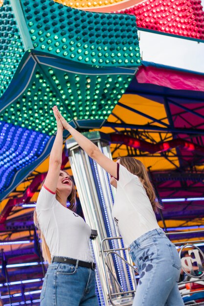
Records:
{"label": "upper teal bulb-studded panel beside the blank white board", "polygon": [[99,66],[139,66],[136,18],[86,12],[53,0],[24,0],[34,49]]}

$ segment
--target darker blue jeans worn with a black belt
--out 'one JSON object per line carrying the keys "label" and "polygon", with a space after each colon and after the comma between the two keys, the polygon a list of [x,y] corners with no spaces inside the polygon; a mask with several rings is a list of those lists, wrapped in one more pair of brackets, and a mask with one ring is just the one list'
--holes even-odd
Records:
{"label": "darker blue jeans worn with a black belt", "polygon": [[98,306],[95,271],[68,263],[50,263],[40,299],[41,306]]}

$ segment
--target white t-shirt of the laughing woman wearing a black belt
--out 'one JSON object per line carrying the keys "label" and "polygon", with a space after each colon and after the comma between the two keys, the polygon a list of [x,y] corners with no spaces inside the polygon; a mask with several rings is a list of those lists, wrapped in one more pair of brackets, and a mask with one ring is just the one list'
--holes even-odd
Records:
{"label": "white t-shirt of the laughing woman wearing a black belt", "polygon": [[69,257],[92,262],[91,227],[60,202],[45,185],[38,196],[36,212],[51,257]]}

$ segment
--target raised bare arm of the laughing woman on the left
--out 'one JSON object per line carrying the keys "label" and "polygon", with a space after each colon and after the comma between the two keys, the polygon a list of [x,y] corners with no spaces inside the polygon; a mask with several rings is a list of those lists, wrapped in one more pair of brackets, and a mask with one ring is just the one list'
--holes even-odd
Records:
{"label": "raised bare arm of the laughing woman on the left", "polygon": [[62,164],[62,146],[63,146],[63,125],[57,115],[57,108],[53,107],[54,116],[57,122],[57,134],[52,146],[49,157],[49,169],[45,178],[45,186],[52,192],[56,191],[57,182],[60,175]]}

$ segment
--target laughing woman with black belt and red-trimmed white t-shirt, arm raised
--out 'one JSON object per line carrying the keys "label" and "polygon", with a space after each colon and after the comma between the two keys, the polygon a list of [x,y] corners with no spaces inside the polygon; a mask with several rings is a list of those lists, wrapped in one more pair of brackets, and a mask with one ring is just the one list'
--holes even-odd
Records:
{"label": "laughing woman with black belt and red-trimmed white t-shirt, arm raised", "polygon": [[49,264],[41,306],[98,306],[95,263],[89,246],[91,228],[74,212],[75,188],[71,177],[60,170],[64,128],[56,109],[53,112],[57,134],[34,213],[42,238],[43,257]]}

